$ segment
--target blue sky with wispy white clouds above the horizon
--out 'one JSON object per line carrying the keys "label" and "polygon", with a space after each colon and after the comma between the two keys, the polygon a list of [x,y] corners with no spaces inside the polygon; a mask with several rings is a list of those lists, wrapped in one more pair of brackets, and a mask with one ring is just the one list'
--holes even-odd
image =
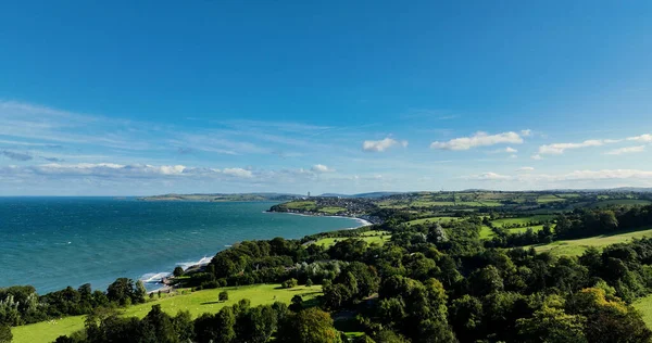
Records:
{"label": "blue sky with wispy white clouds above the horizon", "polygon": [[0,194],[652,187],[650,1],[0,4]]}

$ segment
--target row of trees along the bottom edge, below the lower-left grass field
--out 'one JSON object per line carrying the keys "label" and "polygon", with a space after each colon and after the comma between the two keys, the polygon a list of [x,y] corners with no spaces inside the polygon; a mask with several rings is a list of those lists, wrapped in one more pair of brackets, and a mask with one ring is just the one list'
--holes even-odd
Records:
{"label": "row of trees along the bottom edge, below the lower-left grass field", "polygon": [[216,314],[192,320],[190,313],[170,316],[160,305],[142,319],[124,318],[115,310],[98,310],[88,316],[85,329],[57,343],[262,343],[272,338],[278,343],[338,343],[340,333],[333,319],[318,308],[303,309],[301,297],[292,306],[283,303],[251,307],[248,300],[225,306]]}

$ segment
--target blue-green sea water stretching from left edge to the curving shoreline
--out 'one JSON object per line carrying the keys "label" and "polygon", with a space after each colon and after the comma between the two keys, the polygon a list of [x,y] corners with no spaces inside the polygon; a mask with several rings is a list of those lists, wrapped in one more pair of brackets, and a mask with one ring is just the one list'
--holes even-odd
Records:
{"label": "blue-green sea water stretching from left edge to the curving shoreline", "polygon": [[0,287],[32,284],[46,293],[90,282],[104,290],[117,277],[153,280],[242,240],[358,226],[264,213],[273,204],[0,198]]}

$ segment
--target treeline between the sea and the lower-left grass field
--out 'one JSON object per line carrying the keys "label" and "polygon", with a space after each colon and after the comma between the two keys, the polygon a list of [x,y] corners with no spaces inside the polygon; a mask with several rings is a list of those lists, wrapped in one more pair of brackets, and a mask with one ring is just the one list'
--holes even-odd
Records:
{"label": "treeline between the sea and the lower-left grass field", "polygon": [[39,296],[32,285],[0,289],[0,326],[21,326],[65,316],[90,314],[93,309],[145,303],[142,281],[120,278],[106,292],[92,291],[89,283]]}

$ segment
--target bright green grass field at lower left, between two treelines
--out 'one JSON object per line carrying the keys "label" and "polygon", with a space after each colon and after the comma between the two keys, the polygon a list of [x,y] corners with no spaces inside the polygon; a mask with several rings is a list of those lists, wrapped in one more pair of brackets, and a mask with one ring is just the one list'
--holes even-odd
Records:
{"label": "bright green grass field at lower left, between two treelines", "polygon": [[[224,303],[217,302],[217,295],[222,291],[228,291],[229,300]],[[145,317],[152,305],[160,304],[162,309],[170,315],[176,315],[179,310],[189,310],[193,317],[203,313],[216,313],[224,306],[236,304],[242,298],[249,298],[251,306],[272,304],[274,302],[289,303],[292,296],[301,295],[304,301],[322,294],[321,285],[311,288],[297,287],[293,289],[280,289],[278,284],[255,284],[239,288],[223,288],[215,290],[203,290],[191,292],[186,295],[175,295],[154,300],[140,305],[134,305],[124,310],[124,316]],[[58,336],[70,334],[84,329],[85,316],[66,317],[59,320],[43,321],[12,329],[14,343],[40,343],[52,342]]]}

